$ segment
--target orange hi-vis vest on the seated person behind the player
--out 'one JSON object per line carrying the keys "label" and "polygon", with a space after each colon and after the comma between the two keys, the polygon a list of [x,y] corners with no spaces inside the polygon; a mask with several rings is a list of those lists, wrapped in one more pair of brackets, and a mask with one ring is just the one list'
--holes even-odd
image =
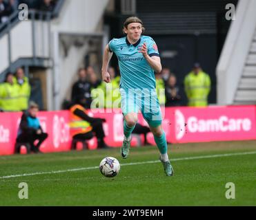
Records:
{"label": "orange hi-vis vest on the seated person behind the player", "polygon": [[89,131],[92,131],[92,126],[90,126],[89,122],[82,120],[74,114],[75,109],[80,109],[81,111],[87,113],[86,109],[84,109],[80,104],[75,104],[70,109],[70,133],[72,137],[79,133],[88,133]]}

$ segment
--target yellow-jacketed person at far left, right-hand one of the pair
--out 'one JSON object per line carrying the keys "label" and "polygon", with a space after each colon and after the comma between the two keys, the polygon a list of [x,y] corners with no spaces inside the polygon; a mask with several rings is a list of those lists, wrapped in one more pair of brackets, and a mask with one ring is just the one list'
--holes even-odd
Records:
{"label": "yellow-jacketed person at far left, right-hand one of the pair", "polygon": [[17,69],[14,83],[17,83],[17,85],[19,85],[19,98],[17,101],[17,105],[19,106],[21,111],[27,110],[28,101],[30,99],[31,87],[28,82],[28,78],[24,75],[22,68]]}

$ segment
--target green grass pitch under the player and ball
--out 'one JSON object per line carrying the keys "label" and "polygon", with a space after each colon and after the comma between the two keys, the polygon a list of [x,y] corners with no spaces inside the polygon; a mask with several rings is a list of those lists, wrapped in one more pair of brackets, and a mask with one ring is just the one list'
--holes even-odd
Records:
{"label": "green grass pitch under the player and ball", "polygon": [[[170,145],[173,177],[155,162],[156,146],[132,148],[128,159],[119,151],[0,157],[0,206],[256,206],[256,141]],[[95,168],[106,156],[126,164],[115,178]],[[18,197],[21,182],[28,199]],[[225,197],[228,182],[235,199]]]}

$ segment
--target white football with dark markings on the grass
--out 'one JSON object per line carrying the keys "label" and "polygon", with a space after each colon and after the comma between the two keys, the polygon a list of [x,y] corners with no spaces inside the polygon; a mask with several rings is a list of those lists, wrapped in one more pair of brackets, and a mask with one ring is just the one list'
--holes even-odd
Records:
{"label": "white football with dark markings on the grass", "polygon": [[105,157],[99,164],[99,170],[105,177],[115,177],[120,171],[120,164],[115,157]]}

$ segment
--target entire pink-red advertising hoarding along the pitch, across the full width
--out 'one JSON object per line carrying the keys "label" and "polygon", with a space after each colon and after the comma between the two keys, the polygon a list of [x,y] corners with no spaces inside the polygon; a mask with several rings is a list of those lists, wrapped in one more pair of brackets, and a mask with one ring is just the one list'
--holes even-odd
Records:
{"label": "entire pink-red advertising hoarding along the pitch, across the full width", "polygon": [[[163,128],[171,143],[213,142],[228,140],[256,140],[256,106],[236,107],[168,107],[162,109]],[[90,112],[90,116],[106,118],[104,131],[106,143],[121,146],[123,141],[123,115],[120,109],[114,112]],[[0,113],[0,155],[14,153],[21,113]],[[43,131],[49,134],[41,146],[44,153],[70,151],[71,137],[68,111],[42,111],[39,120]],[[142,115],[139,122],[146,125]],[[137,146],[144,137],[132,138],[132,146]],[[155,144],[152,133],[147,140]],[[96,138],[88,141],[89,149],[97,148]]]}

